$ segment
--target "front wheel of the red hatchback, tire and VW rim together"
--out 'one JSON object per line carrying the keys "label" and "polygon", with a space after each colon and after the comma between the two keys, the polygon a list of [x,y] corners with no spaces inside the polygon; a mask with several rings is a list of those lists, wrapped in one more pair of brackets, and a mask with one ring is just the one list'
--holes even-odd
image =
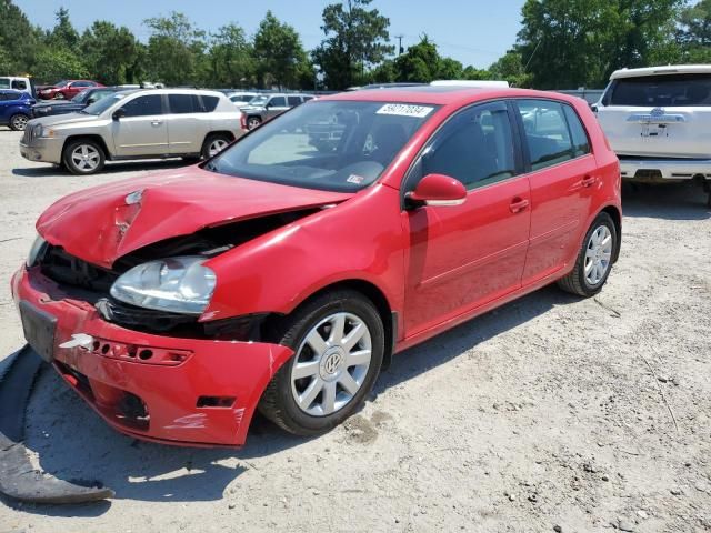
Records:
{"label": "front wheel of the red hatchback, tire and VW rim together", "polygon": [[373,386],[384,353],[384,329],[359,292],[336,291],[286,320],[279,343],[293,349],[267,386],[259,410],[282,429],[313,435],[350,416]]}

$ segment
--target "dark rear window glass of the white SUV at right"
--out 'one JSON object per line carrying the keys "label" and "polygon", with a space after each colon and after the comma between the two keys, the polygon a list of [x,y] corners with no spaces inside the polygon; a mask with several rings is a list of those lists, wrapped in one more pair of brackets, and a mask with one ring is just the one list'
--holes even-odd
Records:
{"label": "dark rear window glass of the white SUV at right", "polygon": [[609,104],[640,108],[711,105],[711,74],[619,78],[611,87]]}

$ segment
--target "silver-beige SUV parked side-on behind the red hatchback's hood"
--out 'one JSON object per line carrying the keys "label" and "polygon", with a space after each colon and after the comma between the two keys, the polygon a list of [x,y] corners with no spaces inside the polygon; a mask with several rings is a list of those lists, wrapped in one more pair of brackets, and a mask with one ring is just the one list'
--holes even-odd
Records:
{"label": "silver-beige SUV parked side-on behind the red hatchback's hood", "polygon": [[74,174],[92,174],[107,160],[209,158],[242,133],[240,112],[224,94],[134,90],[78,113],[31,120],[20,153],[30,161],[63,164]]}

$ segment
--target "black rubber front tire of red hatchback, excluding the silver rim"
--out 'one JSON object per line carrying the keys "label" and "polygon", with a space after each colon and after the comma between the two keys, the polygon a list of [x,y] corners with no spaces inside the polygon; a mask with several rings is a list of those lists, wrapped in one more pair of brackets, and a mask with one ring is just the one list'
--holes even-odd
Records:
{"label": "black rubber front tire of red hatchback, excluding the silver rim", "polygon": [[360,389],[346,405],[328,415],[310,415],[301,410],[292,394],[291,371],[299,355],[294,353],[274,374],[259,402],[259,411],[290,433],[316,435],[333,429],[358,410],[378,378],[385,345],[384,328],[375,306],[359,292],[338,290],[304,303],[283,320],[276,332],[278,342],[297,352],[312,328],[339,312],[352,313],[368,326],[372,342],[368,372]]}

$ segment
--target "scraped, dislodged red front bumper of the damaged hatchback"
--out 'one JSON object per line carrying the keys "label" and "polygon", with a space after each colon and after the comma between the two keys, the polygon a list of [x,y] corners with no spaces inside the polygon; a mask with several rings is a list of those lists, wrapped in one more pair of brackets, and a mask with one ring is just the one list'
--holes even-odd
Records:
{"label": "scraped, dislodged red front bumper of the damaged hatchback", "polygon": [[28,342],[113,428],[164,444],[240,446],[262,391],[291,349],[163,336],[104,321],[38,268],[12,295]]}

